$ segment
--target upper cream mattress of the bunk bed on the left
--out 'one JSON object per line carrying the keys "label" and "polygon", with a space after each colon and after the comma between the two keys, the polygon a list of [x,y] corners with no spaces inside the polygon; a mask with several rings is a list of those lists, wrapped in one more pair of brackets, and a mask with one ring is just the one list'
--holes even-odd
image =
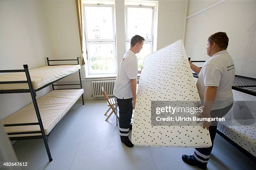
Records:
{"label": "upper cream mattress of the bunk bed on the left", "polygon": [[[70,75],[81,68],[80,65],[44,66],[29,70],[33,88],[36,90],[49,82]],[[0,75],[1,81],[26,81],[25,72],[13,72]],[[28,89],[28,83],[0,84],[0,90]]]}

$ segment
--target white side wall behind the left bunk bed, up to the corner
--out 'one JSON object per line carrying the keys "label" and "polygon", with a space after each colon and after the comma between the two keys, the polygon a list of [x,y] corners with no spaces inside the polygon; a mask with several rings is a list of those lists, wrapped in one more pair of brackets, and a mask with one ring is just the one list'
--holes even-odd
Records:
{"label": "white side wall behind the left bunk bed, up to the corner", "polygon": [[[51,52],[41,0],[1,0],[0,23],[0,70],[46,65]],[[37,92],[37,97],[47,92],[49,88]],[[30,102],[29,93],[0,94],[0,119]]]}

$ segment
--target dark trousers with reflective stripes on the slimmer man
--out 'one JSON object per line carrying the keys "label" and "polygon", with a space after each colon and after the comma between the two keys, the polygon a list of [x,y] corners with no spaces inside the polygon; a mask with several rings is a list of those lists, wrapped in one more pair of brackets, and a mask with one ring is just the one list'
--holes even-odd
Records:
{"label": "dark trousers with reflective stripes on the slimmer man", "polygon": [[129,135],[129,127],[131,123],[131,110],[130,99],[117,99],[118,107],[119,107],[119,134],[120,136],[128,136]]}

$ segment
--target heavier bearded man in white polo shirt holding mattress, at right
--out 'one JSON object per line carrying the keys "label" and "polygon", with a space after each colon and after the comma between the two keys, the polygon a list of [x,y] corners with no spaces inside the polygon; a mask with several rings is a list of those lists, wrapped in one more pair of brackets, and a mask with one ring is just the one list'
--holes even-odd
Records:
{"label": "heavier bearded man in white polo shirt holding mattress, at right", "polygon": [[[223,117],[233,106],[232,85],[235,66],[228,54],[228,36],[225,32],[216,32],[208,38],[207,55],[211,58],[197,67],[189,61],[191,69],[198,74],[197,90],[203,105],[200,117]],[[210,133],[210,148],[195,148],[193,155],[182,155],[182,160],[201,169],[207,169],[207,163],[217,132],[217,121],[203,122],[203,128]]]}

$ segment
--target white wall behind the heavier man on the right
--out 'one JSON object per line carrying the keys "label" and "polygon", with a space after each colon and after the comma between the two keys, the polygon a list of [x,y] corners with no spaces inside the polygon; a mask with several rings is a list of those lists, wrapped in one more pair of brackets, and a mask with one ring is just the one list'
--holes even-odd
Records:
{"label": "white wall behind the heavier man on the right", "polygon": [[[189,0],[189,11],[195,12],[203,7],[205,4],[200,0]],[[218,31],[227,32],[227,50],[233,58],[236,74],[256,78],[255,16],[255,0],[227,0],[189,18],[185,40],[187,56],[191,57],[191,60],[207,60],[208,37]]]}

